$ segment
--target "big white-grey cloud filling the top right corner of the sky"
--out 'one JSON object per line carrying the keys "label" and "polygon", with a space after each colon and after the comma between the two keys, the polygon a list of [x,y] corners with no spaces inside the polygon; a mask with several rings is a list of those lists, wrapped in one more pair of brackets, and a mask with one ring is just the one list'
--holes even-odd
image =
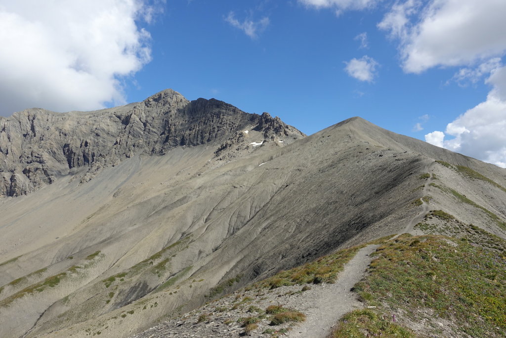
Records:
{"label": "big white-grey cloud filling the top right corner of the sky", "polygon": [[506,1],[418,0],[394,5],[378,24],[400,39],[402,66],[420,73],[434,66],[460,66],[506,51]]}

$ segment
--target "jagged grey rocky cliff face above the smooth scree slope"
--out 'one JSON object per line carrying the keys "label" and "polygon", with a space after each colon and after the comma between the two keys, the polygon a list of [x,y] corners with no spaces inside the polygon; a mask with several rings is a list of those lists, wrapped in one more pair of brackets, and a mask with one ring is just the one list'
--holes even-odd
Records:
{"label": "jagged grey rocky cliff face above the smooth scree slope", "polygon": [[0,196],[24,195],[77,171],[86,171],[81,180],[87,181],[137,154],[158,156],[206,143],[222,151],[249,126],[266,138],[304,136],[267,113],[247,114],[215,99],[188,101],[170,89],[92,112],[26,109],[0,117]]}

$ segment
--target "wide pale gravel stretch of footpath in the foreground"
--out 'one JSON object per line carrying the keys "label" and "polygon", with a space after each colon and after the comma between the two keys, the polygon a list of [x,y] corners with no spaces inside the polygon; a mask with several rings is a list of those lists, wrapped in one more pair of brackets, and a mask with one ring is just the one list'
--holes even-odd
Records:
{"label": "wide pale gravel stretch of footpath in the foreground", "polygon": [[294,327],[288,333],[289,337],[326,337],[339,318],[356,308],[362,308],[362,304],[357,301],[357,294],[350,290],[364,276],[371,262],[369,255],[377,247],[378,245],[369,245],[360,249],[346,264],[334,284],[327,284],[324,290],[305,299],[298,310],[305,313],[307,319],[300,326]]}

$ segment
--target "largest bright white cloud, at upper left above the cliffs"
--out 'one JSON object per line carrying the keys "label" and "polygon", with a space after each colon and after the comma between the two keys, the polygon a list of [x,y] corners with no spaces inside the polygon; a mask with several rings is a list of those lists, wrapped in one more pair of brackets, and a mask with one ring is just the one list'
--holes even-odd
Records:
{"label": "largest bright white cloud, at upper left above the cliffs", "polygon": [[150,61],[140,0],[25,0],[0,5],[0,114],[123,103],[120,81]]}

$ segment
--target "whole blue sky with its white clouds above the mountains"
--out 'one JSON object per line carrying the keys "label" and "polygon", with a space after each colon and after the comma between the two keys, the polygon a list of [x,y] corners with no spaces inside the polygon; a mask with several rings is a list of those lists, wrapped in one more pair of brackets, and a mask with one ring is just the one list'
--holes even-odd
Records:
{"label": "whole blue sky with its white clouds above the mountains", "polygon": [[503,0],[83,3],[0,0],[1,115],[172,88],[307,134],[360,116],[506,166]]}

